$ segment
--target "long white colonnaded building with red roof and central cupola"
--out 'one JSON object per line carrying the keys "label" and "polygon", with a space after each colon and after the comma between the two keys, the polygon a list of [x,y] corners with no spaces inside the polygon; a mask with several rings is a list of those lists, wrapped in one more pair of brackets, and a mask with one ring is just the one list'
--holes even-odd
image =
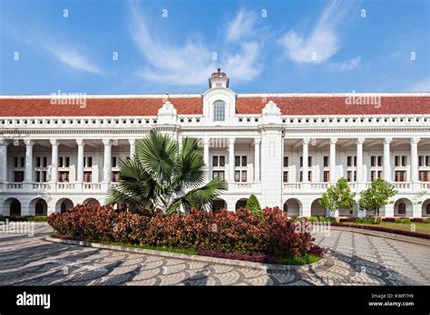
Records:
{"label": "long white colonnaded building with red roof and central cupola", "polygon": [[3,215],[103,204],[151,129],[200,138],[209,176],[229,182],[215,208],[254,194],[325,215],[318,198],[337,178],[360,192],[384,177],[398,195],[382,215],[430,216],[430,93],[238,94],[220,70],[203,94],[1,96]]}

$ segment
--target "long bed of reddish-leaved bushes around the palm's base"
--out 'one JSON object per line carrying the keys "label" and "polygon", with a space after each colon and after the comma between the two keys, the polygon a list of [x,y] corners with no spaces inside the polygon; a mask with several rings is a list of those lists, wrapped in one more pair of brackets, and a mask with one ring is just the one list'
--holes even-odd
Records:
{"label": "long bed of reddish-leaved bushes around the palm's base", "polygon": [[311,235],[299,232],[297,224],[278,207],[262,212],[264,220],[243,208],[236,213],[191,209],[188,215],[139,215],[108,206],[77,205],[64,214],[50,215],[48,223],[59,234],[76,239],[234,253],[257,260],[297,257],[309,251],[324,253]]}

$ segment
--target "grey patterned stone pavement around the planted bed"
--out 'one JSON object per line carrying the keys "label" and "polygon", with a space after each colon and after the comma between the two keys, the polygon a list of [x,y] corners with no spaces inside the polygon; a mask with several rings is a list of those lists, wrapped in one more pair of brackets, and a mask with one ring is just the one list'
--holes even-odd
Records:
{"label": "grey patterned stone pavement around the planted bed", "polygon": [[430,248],[331,231],[327,265],[308,272],[264,272],[216,263],[121,253],[61,243],[36,233],[0,234],[0,285],[428,285]]}

